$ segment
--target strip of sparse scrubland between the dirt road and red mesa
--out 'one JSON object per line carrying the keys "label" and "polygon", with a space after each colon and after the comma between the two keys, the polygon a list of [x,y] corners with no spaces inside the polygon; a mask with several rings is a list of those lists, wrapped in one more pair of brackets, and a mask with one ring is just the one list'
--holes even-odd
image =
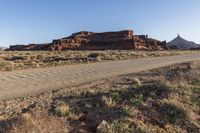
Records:
{"label": "strip of sparse scrubland between the dirt road and red mesa", "polygon": [[169,55],[199,53],[199,51],[135,51],[135,50],[108,50],[108,51],[1,51],[0,71],[12,71],[28,68],[62,66],[69,64],[83,64],[110,60],[127,60]]}

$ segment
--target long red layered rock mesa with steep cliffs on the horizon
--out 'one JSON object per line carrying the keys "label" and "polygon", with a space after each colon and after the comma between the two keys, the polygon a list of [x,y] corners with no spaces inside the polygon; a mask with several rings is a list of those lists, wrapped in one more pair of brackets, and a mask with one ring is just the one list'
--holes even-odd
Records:
{"label": "long red layered rock mesa with steep cliffs on the horizon", "polygon": [[164,50],[166,42],[133,35],[133,31],[94,33],[82,31],[69,37],[53,40],[50,44],[30,44],[11,46],[9,50]]}

